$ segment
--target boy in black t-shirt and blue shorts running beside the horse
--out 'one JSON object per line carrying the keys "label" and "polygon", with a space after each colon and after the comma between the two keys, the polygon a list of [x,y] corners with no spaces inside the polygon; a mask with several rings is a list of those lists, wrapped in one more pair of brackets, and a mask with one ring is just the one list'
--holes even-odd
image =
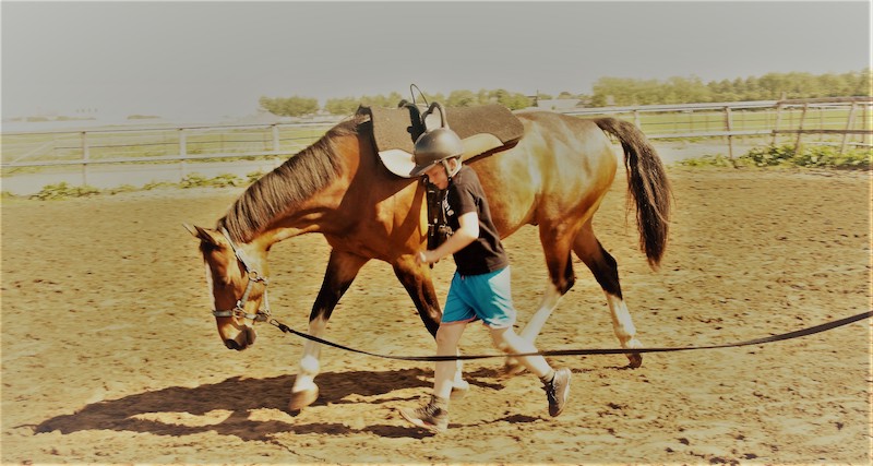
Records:
{"label": "boy in black t-shirt and blue shorts running beside the horse", "polygon": [[[510,287],[510,262],[479,178],[473,168],[463,165],[461,157],[424,157],[412,176],[426,176],[440,190],[446,190],[443,208],[454,234],[434,250],[420,251],[416,261],[435,263],[454,254],[457,270],[449,289],[443,319],[436,331],[436,355],[454,356],[468,322],[481,320],[491,332],[494,345],[510,354],[537,353],[533,344],[513,330],[515,309]],[[431,158],[428,160],[428,158]],[[539,377],[549,402],[549,414],[560,415],[570,394],[570,370],[553,370],[542,356],[518,357],[519,362]],[[400,409],[409,422],[432,432],[449,428],[449,397],[452,392],[456,363],[438,361],[433,394],[419,408]]]}

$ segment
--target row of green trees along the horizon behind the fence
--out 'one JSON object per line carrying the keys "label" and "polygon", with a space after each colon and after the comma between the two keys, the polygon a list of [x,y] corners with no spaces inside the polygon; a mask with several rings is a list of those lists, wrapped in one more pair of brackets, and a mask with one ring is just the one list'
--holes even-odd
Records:
{"label": "row of green trees along the horizon behind the fence", "polygon": [[[506,89],[480,89],[478,92],[452,91],[428,94],[428,101],[440,101],[450,107],[473,107],[500,104],[510,109],[527,108],[537,99],[572,98],[581,106],[632,106],[653,104],[696,104],[709,101],[778,100],[782,98],[847,97],[871,95],[871,69],[848,73],[812,74],[802,72],[767,73],[763,76],[704,83],[696,76],[670,77],[666,81],[626,77],[600,77],[591,86],[593,94],[562,92],[557,97],[548,94],[529,96]],[[310,97],[261,97],[261,108],[278,116],[301,117],[320,111],[331,115],[350,115],[360,105],[371,107],[395,107],[404,96],[388,95],[331,98],[319,106]]]}

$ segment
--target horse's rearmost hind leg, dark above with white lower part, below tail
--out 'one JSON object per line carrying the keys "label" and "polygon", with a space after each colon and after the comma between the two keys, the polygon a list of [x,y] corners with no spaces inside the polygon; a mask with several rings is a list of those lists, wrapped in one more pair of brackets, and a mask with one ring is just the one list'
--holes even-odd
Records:
{"label": "horse's rearmost hind leg, dark above with white lower part, below tail", "polygon": [[[603,249],[594,235],[591,224],[588,222],[576,236],[573,251],[590,268],[597,283],[607,296],[607,304],[612,315],[612,328],[619,338],[622,348],[642,348],[643,344],[636,339],[636,327],[627,311],[627,306],[621,294],[619,284],[619,265],[615,259]],[[630,366],[638,368],[643,363],[643,355],[627,354]]]}

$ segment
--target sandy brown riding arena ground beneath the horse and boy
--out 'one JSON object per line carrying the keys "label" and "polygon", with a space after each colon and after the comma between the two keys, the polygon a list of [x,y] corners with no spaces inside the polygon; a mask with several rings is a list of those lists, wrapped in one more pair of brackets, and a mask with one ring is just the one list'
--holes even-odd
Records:
{"label": "sandy brown riding arena ground beneath the horse and boy", "polygon": [[[671,242],[659,272],[636,250],[623,180],[596,217],[647,346],[729,343],[870,309],[870,175],[669,170]],[[862,321],[733,349],[553,358],[572,399],[550,418],[530,374],[466,365],[450,431],[408,428],[397,407],[428,393],[430,363],[323,351],[321,397],[287,413],[301,339],[261,325],[224,348],[183,222],[211,226],[239,189],[164,190],[2,203],[3,464],[45,463],[841,463],[871,462],[871,327]],[[521,323],[546,272],[536,230],[506,240]],[[271,254],[274,313],[304,330],[327,246]],[[540,349],[615,347],[584,265]],[[451,261],[436,266],[444,296]],[[328,338],[394,355],[434,345],[387,265],[368,264]],[[492,353],[486,332],[467,354]]]}

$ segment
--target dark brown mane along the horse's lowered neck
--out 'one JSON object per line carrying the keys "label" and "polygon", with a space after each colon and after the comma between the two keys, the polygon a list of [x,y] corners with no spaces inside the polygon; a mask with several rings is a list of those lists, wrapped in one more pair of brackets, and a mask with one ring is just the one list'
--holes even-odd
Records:
{"label": "dark brown mane along the horse's lowered neck", "polygon": [[327,187],[344,169],[335,140],[357,134],[362,121],[363,117],[355,116],[340,122],[314,144],[261,177],[218,220],[218,228],[227,228],[234,241],[249,242],[278,215]]}

